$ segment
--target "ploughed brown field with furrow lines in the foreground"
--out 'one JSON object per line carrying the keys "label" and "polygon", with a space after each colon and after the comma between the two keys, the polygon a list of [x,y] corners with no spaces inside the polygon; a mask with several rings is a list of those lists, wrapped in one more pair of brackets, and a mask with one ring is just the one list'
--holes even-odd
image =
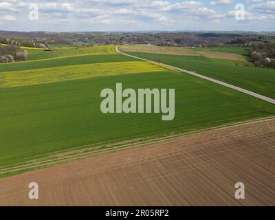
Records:
{"label": "ploughed brown field with furrow lines in the foreground", "polygon": [[[274,168],[271,119],[0,179],[0,206],[274,206]],[[32,181],[37,200],[28,198]]]}

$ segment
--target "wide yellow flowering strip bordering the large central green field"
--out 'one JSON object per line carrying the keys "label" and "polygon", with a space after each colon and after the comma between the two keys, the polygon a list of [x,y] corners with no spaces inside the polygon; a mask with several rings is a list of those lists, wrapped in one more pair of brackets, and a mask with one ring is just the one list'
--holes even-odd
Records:
{"label": "wide yellow flowering strip bordering the large central green field", "polygon": [[71,65],[45,69],[29,69],[0,74],[1,87],[18,87],[41,83],[54,83],[64,80],[76,80],[98,76],[113,76],[118,74],[136,74],[146,72],[161,72],[169,69],[162,65],[155,65],[144,61],[94,63],[85,65]]}

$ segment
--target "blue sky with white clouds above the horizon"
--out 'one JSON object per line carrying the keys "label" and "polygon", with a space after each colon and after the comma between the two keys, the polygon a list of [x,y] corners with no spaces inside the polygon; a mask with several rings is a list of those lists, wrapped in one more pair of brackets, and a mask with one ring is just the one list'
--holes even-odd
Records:
{"label": "blue sky with white clouds above the horizon", "polygon": [[275,31],[274,19],[275,0],[0,0],[0,30]]}

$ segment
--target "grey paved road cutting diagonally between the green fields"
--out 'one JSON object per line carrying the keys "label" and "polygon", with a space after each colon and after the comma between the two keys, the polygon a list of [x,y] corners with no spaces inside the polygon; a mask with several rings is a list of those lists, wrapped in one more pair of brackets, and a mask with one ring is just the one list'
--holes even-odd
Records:
{"label": "grey paved road cutting diagonally between the green fields", "polygon": [[[144,59],[144,58],[140,58],[140,57],[137,57],[137,56],[132,56],[132,55],[129,55],[129,54],[125,54],[125,53],[121,52],[121,51],[118,49],[118,47],[115,47],[115,50],[116,50],[118,53],[123,54],[123,55],[125,55],[125,56],[131,56],[131,57],[133,57],[133,58],[137,58],[137,59],[140,59],[140,60],[142,60],[142,61],[148,61],[148,62],[157,63],[157,62],[155,62],[155,61],[150,61],[150,60],[147,60],[147,59]],[[203,79],[205,79],[205,80],[209,80],[209,81],[211,81],[211,82],[213,82],[213,83],[217,83],[217,84],[219,84],[219,85],[223,85],[223,86],[225,86],[225,87],[234,89],[234,90],[236,90],[236,91],[241,91],[241,92],[244,93],[244,94],[248,94],[248,95],[250,95],[250,96],[254,96],[254,97],[256,97],[256,98],[259,98],[259,99],[261,99],[261,100],[264,100],[264,101],[266,101],[266,102],[270,102],[270,103],[272,103],[272,104],[275,104],[275,100],[274,100],[273,98],[269,98],[269,97],[267,97],[267,96],[263,96],[263,95],[261,95],[261,94],[257,94],[257,93],[255,93],[255,92],[253,92],[253,91],[249,91],[249,90],[243,89],[243,88],[241,88],[241,87],[236,87],[236,86],[231,85],[231,84],[229,84],[229,83],[224,83],[224,82],[221,81],[221,80],[215,80],[214,78],[210,78],[210,77],[207,77],[207,76],[203,76],[203,75],[201,75],[201,74],[197,74],[197,73],[195,73],[195,72],[191,72],[191,71],[188,71],[188,70],[186,70],[186,69],[181,69],[181,68],[179,68],[179,67],[173,67],[173,66],[167,65],[167,64],[165,64],[165,63],[161,63],[161,64],[164,65],[164,66],[166,66],[166,67],[172,67],[172,68],[174,68],[174,69],[177,69],[177,70],[180,71],[180,72],[184,72],[184,73],[186,73],[186,74],[190,74],[190,75],[193,75],[193,76],[197,76],[197,77],[199,77],[199,78],[203,78]]]}

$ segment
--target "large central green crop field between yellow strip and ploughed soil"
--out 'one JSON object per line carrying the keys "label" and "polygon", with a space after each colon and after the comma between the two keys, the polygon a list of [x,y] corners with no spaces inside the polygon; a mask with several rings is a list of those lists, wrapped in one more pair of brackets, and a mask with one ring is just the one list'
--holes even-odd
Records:
{"label": "large central green crop field between yellow strip and ploughed soil", "polygon": [[[102,113],[100,91],[115,90],[115,83],[135,91],[175,88],[175,119],[164,122],[162,113]],[[186,133],[275,114],[272,104],[168,70],[5,87],[0,100],[1,168],[90,144]]]}

